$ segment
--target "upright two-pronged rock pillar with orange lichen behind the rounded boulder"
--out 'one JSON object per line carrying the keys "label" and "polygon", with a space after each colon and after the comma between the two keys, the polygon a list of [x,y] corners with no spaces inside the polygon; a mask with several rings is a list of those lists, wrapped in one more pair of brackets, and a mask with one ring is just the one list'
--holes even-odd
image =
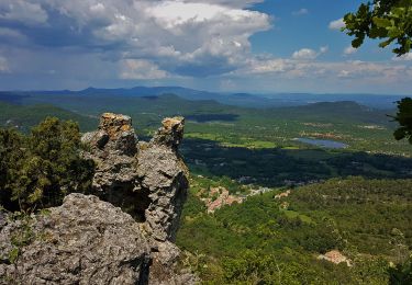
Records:
{"label": "upright two-pronged rock pillar with orange lichen behind the rounded boulder", "polygon": [[105,113],[99,129],[82,141],[96,162],[93,194],[146,223],[152,237],[174,240],[188,189],[188,170],[178,153],[182,117],[165,118],[149,142],[138,141],[129,116]]}

